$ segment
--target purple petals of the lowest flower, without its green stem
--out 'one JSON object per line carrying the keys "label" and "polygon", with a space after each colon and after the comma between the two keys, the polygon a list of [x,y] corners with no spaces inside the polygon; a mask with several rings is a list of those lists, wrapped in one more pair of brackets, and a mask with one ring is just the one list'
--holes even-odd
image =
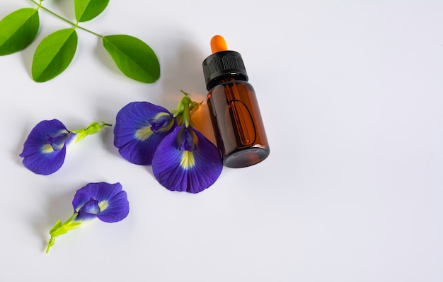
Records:
{"label": "purple petals of the lowest flower, without its green stem", "polygon": [[75,221],[98,218],[113,223],[121,221],[130,212],[127,194],[122,184],[105,182],[89,183],[77,190],[72,200],[74,211],[78,213]]}

